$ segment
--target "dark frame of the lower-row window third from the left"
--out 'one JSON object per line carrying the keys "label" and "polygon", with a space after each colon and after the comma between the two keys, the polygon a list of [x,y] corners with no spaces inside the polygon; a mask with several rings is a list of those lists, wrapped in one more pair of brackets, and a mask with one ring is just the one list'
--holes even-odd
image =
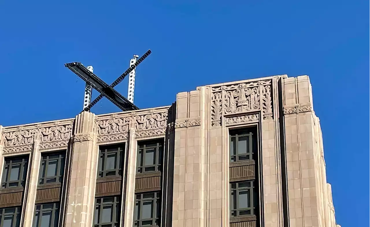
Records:
{"label": "dark frame of the lower-row window third from the left", "polygon": [[[104,202],[104,199],[109,199],[113,198],[113,202]],[[111,214],[111,222],[106,222],[106,223],[100,223],[100,220],[102,220],[102,215],[103,215],[103,209],[105,205],[112,205],[112,214]],[[95,211],[98,208],[98,223],[95,223]],[[101,226],[106,226],[106,225],[111,225],[112,227],[118,227],[120,226],[120,220],[121,220],[121,196],[120,195],[115,195],[115,196],[104,196],[104,197],[96,197],[95,198],[95,209],[94,209],[94,219],[93,221],[93,227],[101,227]]]}

